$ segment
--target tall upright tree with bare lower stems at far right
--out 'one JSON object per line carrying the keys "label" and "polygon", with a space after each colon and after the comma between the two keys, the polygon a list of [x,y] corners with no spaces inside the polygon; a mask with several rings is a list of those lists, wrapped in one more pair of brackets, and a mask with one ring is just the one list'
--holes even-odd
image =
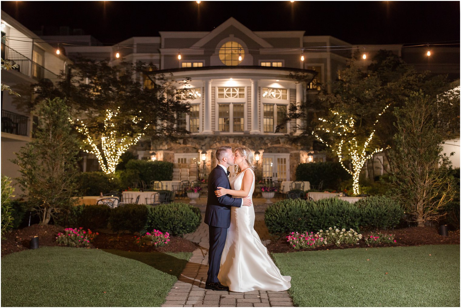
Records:
{"label": "tall upright tree with bare lower stems at far right", "polygon": [[396,198],[411,215],[409,221],[423,226],[446,213],[443,207],[453,200],[454,178],[451,163],[442,154],[443,131],[437,127],[437,104],[417,93],[402,108],[395,108],[395,147],[390,150],[390,184]]}

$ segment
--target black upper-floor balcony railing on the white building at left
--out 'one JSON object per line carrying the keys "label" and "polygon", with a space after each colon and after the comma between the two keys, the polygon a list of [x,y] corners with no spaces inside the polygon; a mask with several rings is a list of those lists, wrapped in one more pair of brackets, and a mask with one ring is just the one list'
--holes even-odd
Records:
{"label": "black upper-floor balcony railing on the white building at left", "polygon": [[1,50],[2,58],[11,61],[13,65],[17,64],[18,67],[14,70],[20,72],[25,76],[31,77],[36,81],[40,81],[41,79],[49,79],[53,83],[62,80],[58,75],[56,75],[52,71],[49,71],[43,66],[33,62],[23,54],[18,53],[16,50],[6,46],[5,44],[1,44]]}

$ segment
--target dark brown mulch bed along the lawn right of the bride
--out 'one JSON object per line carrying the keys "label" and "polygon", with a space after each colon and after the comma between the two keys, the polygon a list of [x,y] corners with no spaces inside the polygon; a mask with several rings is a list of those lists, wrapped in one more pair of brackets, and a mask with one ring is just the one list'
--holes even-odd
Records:
{"label": "dark brown mulch bed along the lawn right of the bride", "polygon": [[[409,227],[395,230],[379,230],[381,233],[395,234],[397,243],[394,245],[381,244],[372,247],[389,247],[389,246],[420,246],[420,245],[435,245],[435,244],[459,244],[460,231],[449,231],[448,236],[438,234],[437,228],[433,227]],[[370,231],[362,232],[362,235],[367,237]],[[293,249],[287,242],[285,236],[279,237],[267,245],[267,250],[272,253],[295,252],[304,250],[331,250],[345,249],[353,247],[368,247],[364,241],[360,241],[358,245],[337,247],[335,244],[316,247],[314,249]]]}

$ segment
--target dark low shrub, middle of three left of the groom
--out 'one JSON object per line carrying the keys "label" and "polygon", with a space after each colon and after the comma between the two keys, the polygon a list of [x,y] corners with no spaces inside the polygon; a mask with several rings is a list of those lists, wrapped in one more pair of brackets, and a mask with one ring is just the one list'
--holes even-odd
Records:
{"label": "dark low shrub, middle of three left of the groom", "polygon": [[111,210],[109,223],[113,231],[141,232],[146,229],[148,207],[145,204],[123,204]]}

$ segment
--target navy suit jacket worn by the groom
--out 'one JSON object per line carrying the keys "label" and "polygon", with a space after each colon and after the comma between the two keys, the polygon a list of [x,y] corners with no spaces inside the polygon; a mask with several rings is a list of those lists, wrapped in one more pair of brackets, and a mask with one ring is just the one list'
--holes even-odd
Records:
{"label": "navy suit jacket worn by the groom", "polygon": [[214,194],[218,187],[231,189],[229,178],[223,168],[216,166],[208,176],[208,199],[205,212],[205,223],[213,227],[229,228],[231,225],[231,207],[241,207],[242,198],[232,198],[223,195],[219,198]]}

